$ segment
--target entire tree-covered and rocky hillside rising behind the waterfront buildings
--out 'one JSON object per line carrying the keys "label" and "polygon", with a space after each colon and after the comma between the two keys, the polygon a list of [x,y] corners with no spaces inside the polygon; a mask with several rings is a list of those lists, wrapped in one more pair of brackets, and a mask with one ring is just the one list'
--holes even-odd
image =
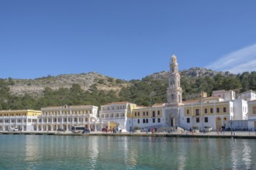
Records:
{"label": "entire tree-covered and rocky hillside rising behind the waterfront buildings", "polygon": [[[0,79],[0,110],[130,101],[150,106],[166,102],[168,72],[141,80],[119,80],[99,73],[64,74],[34,80]],[[213,90],[256,90],[256,72],[231,74],[191,68],[181,71],[182,97]]]}

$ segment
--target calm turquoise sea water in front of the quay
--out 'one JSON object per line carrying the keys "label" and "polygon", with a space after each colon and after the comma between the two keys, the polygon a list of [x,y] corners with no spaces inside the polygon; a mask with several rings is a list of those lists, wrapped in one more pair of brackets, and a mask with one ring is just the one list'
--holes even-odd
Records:
{"label": "calm turquoise sea water in front of the quay", "polygon": [[0,169],[256,169],[255,140],[0,135]]}

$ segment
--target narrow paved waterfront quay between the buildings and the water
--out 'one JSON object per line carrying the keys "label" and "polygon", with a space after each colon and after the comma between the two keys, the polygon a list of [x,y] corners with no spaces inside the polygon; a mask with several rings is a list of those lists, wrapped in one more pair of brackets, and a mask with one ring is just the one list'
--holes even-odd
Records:
{"label": "narrow paved waterfront quay between the buildings and the water", "polygon": [[0,131],[0,134],[23,134],[23,135],[78,135],[78,136],[151,136],[151,137],[173,137],[173,138],[251,138],[256,139],[255,131],[224,131],[218,133],[212,131],[209,133],[189,133],[189,132],[171,132],[171,133],[146,133],[146,132],[102,132],[102,131],[92,131],[88,134],[73,134],[71,131]]}

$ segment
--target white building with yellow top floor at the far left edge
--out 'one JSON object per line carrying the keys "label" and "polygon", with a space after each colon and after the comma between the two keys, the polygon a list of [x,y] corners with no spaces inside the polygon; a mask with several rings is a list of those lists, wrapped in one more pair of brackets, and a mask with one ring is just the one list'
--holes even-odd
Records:
{"label": "white building with yellow top floor at the far left edge", "polygon": [[33,131],[40,110],[1,110],[0,131]]}

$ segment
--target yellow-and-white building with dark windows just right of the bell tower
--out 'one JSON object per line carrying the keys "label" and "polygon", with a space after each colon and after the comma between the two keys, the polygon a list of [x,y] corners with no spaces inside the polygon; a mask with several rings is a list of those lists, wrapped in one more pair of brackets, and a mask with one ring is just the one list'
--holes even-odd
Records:
{"label": "yellow-and-white building with dark windows just right of the bell tower", "polygon": [[212,127],[219,130],[234,117],[234,103],[220,97],[206,97],[202,100],[183,102],[182,125],[185,128]]}

